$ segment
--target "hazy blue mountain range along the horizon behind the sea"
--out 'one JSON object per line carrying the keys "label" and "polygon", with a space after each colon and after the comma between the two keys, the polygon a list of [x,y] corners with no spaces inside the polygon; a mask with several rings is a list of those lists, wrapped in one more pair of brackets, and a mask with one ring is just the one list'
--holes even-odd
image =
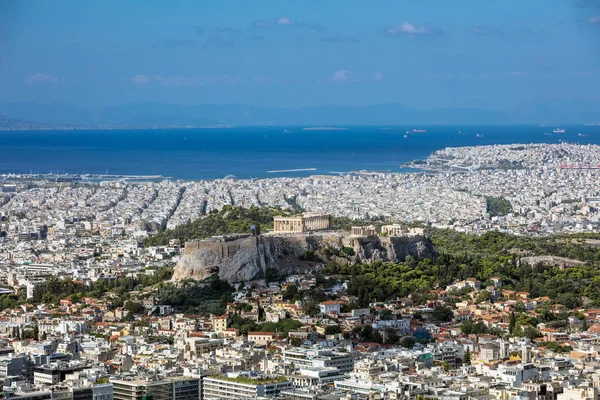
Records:
{"label": "hazy blue mountain range along the horizon behind the sea", "polygon": [[135,103],[87,108],[68,104],[0,103],[0,129],[169,127],[214,125],[485,125],[579,124],[600,120],[600,107],[584,102],[525,103],[504,110],[400,104],[303,108]]}

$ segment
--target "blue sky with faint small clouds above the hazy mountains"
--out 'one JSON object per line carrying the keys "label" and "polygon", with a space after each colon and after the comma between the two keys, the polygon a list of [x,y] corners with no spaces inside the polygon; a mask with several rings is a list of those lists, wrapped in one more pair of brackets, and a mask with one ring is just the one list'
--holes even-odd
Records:
{"label": "blue sky with faint small clouds above the hazy mountains", "polygon": [[599,0],[0,2],[0,101],[600,105]]}

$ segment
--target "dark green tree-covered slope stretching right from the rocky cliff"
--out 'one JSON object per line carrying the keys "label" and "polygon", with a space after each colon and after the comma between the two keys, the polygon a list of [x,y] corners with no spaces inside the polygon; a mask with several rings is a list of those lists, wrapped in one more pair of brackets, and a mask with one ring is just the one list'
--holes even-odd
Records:
{"label": "dark green tree-covered slope stretching right from the rocky cliff", "polygon": [[[339,266],[329,263],[324,272],[350,277],[348,293],[361,306],[412,295],[426,299],[428,290],[445,288],[457,280],[475,277],[484,286],[498,276],[503,289],[527,291],[531,297],[549,296],[567,308],[600,306],[600,247],[586,245],[584,238],[598,235],[520,237],[500,232],[480,236],[451,230],[429,229],[438,250],[434,259],[407,257],[404,263],[375,262]],[[570,240],[565,240],[566,238]],[[534,265],[520,261],[526,255],[554,255],[585,262],[585,265]]]}

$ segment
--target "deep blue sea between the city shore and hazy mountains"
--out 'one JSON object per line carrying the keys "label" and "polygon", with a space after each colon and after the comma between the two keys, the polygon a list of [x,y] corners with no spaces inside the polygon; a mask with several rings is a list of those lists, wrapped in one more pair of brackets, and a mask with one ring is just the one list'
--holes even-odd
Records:
{"label": "deep blue sea between the city shore and hazy mountains", "polygon": [[402,165],[445,147],[600,144],[598,125],[562,126],[565,133],[552,133],[551,126],[310,128],[0,131],[0,175],[52,172],[202,180],[414,172]]}

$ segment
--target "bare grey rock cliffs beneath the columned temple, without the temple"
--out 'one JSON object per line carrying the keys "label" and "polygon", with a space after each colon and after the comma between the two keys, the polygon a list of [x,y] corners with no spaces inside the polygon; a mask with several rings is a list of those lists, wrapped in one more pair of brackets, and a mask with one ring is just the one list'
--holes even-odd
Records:
{"label": "bare grey rock cliffs beneath the columned temple, without the temple", "polygon": [[305,271],[323,262],[306,260],[307,252],[339,252],[351,247],[354,256],[346,262],[403,262],[407,256],[432,257],[435,249],[424,236],[412,237],[344,237],[342,235],[289,235],[240,237],[186,244],[186,252],[175,267],[173,280],[201,280],[217,273],[228,282],[249,281],[264,277],[267,269],[278,275]]}

